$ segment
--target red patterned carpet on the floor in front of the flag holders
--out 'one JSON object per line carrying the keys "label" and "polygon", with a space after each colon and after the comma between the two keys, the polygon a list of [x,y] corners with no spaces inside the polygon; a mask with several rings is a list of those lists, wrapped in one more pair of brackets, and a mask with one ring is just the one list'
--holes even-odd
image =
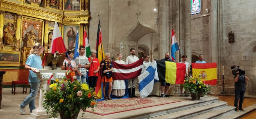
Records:
{"label": "red patterned carpet on the floor in front of the flag holders", "polygon": [[108,101],[98,101],[98,105],[92,111],[91,108],[87,109],[86,112],[98,114],[98,115],[109,115],[114,113],[120,113],[130,111],[134,109],[141,109],[146,107],[170,104],[180,101],[161,99],[161,98],[125,98]]}

